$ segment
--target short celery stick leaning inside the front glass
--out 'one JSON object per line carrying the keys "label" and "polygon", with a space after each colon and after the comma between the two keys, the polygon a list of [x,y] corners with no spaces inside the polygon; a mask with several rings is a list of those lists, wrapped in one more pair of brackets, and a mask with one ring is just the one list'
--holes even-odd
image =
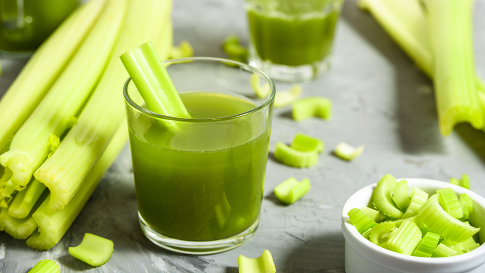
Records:
{"label": "short celery stick leaning inside the front glass", "polygon": [[[120,59],[148,110],[172,117],[191,117],[150,41],[121,54]],[[172,130],[179,129],[173,122],[164,124]]]}

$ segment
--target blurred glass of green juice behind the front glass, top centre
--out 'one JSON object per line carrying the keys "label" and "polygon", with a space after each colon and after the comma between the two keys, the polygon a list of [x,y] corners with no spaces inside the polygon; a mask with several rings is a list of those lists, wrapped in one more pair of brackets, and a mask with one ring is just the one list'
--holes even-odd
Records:
{"label": "blurred glass of green juice behind the front glass, top centre", "polygon": [[272,79],[315,79],[330,68],[343,0],[244,0],[249,64]]}

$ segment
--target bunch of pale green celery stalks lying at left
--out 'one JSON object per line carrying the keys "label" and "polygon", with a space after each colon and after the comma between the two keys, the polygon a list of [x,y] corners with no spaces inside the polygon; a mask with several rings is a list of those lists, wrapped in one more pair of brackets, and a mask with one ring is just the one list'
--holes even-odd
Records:
{"label": "bunch of pale green celery stalks lying at left", "polygon": [[120,55],[172,50],[171,0],[89,0],[38,48],[0,101],[0,230],[47,250],[128,142]]}

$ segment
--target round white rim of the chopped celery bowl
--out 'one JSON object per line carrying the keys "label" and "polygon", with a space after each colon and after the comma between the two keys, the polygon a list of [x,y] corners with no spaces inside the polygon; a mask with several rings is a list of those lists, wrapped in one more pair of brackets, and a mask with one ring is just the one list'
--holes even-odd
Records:
{"label": "round white rim of the chopped celery bowl", "polygon": [[[485,199],[479,194],[467,190],[463,187],[453,185],[448,182],[427,178],[397,178],[396,180],[400,181],[404,179],[408,182],[410,189],[416,186],[428,190],[450,187],[457,194],[467,193],[474,201],[474,204],[478,204],[483,209],[485,209]],[[354,250],[356,250],[362,257],[376,264],[380,264],[381,266],[385,266],[391,269],[397,268],[398,271],[399,268],[403,265],[409,266],[409,263],[423,266],[423,269],[429,269],[430,267],[436,267],[437,265],[442,265],[443,267],[448,268],[456,266],[457,263],[460,263],[463,264],[460,265],[460,270],[464,270],[465,268],[463,268],[463,266],[465,265],[468,265],[466,266],[467,268],[473,269],[485,262],[485,243],[468,253],[460,254],[457,256],[428,258],[408,256],[401,253],[393,252],[388,249],[379,247],[371,241],[365,239],[360,233],[358,233],[357,229],[349,223],[347,212],[350,209],[356,207],[353,204],[356,204],[357,200],[362,202],[362,199],[364,199],[364,197],[362,197],[363,194],[367,194],[366,196],[368,197],[365,198],[367,198],[368,202],[370,200],[370,194],[372,194],[372,190],[375,188],[376,184],[377,183],[367,185],[353,193],[347,199],[342,208],[342,232],[344,235],[344,239],[346,243],[354,248]]]}

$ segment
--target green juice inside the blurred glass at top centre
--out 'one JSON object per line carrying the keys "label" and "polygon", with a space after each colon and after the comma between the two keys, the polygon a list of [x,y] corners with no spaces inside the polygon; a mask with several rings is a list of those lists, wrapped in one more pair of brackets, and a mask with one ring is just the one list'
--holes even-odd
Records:
{"label": "green juice inside the blurred glass at top centre", "polygon": [[246,12],[254,49],[263,61],[296,66],[320,62],[331,53],[338,9],[301,14],[250,5]]}

